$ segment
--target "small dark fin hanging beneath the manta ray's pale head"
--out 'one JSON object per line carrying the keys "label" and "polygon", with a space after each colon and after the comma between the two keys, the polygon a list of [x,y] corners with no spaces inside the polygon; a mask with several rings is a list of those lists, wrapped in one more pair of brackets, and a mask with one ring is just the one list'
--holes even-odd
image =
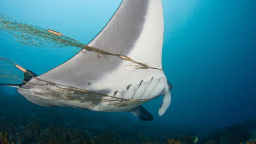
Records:
{"label": "small dark fin hanging beneath the manta ray's pale head", "polygon": [[154,119],[153,115],[151,115],[144,107],[138,106],[130,111],[133,115],[140,118],[141,121],[152,121]]}

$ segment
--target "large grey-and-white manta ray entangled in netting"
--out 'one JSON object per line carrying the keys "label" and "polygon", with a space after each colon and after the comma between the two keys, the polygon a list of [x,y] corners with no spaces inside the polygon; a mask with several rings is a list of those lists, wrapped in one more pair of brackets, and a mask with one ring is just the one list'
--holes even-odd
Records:
{"label": "large grey-and-white manta ray entangled in netting", "polygon": [[143,103],[164,95],[160,116],[171,103],[172,85],[162,68],[163,34],[161,0],[123,0],[100,33],[66,62],[39,76],[16,65],[24,79],[15,86],[40,106],[131,112],[151,121]]}

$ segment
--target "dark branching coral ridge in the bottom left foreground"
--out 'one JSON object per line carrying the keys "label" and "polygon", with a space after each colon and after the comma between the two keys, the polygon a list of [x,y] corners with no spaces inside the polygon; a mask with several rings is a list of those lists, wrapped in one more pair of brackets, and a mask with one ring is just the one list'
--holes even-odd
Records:
{"label": "dark branching coral ridge in the bottom left foreground", "polygon": [[9,136],[9,133],[2,134],[1,139],[2,143],[0,144],[9,144],[9,143],[49,143],[49,144],[58,144],[58,143],[159,143],[155,141],[149,141],[142,134],[138,135],[138,139],[126,138],[122,139],[115,136],[114,131],[102,131],[96,136],[88,131],[77,130],[73,128],[67,128],[63,126],[58,126],[56,124],[49,124],[46,128],[43,127],[42,123],[38,118],[33,118],[33,121],[27,126],[22,128],[22,131],[19,133],[14,133],[13,135],[20,135],[21,139],[19,142],[15,139],[14,136]]}

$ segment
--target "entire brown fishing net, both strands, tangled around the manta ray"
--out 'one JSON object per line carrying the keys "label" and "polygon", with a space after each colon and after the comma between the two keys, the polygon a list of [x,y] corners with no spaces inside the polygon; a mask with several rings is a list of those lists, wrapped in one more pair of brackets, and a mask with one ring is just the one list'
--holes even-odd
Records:
{"label": "entire brown fishing net, both strands, tangled around the manta ray", "polygon": [[[147,66],[146,63],[134,61],[125,55],[110,53],[97,49],[96,47],[84,45],[81,42],[67,37],[57,31],[33,26],[26,22],[18,22],[7,15],[4,15],[3,13],[0,13],[0,30],[4,30],[9,34],[12,34],[15,41],[18,41],[21,45],[53,48],[74,47],[75,52],[83,49],[82,52],[96,52],[98,57],[103,57],[105,59],[113,55],[123,60],[131,61],[132,64],[129,66],[133,66],[135,69],[153,68]],[[133,63],[136,65],[133,65]],[[84,103],[84,107],[100,106],[100,103],[103,102],[108,102],[108,105],[113,105],[116,107],[132,105],[139,106],[142,103],[149,101],[114,98],[108,95],[78,89],[77,87],[43,81],[36,76],[37,75],[32,71],[22,68],[12,60],[0,57],[0,85],[23,85],[23,89],[29,90],[28,94],[26,95],[30,95],[33,98],[42,100],[78,100]],[[33,81],[34,83],[29,81],[33,77],[36,79]],[[26,85],[24,85],[25,83]]]}

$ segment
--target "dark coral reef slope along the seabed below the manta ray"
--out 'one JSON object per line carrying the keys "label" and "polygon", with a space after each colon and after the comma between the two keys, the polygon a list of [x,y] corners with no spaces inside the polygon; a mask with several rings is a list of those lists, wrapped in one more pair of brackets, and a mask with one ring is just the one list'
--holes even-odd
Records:
{"label": "dark coral reef slope along the seabed below the manta ray", "polygon": [[[8,95],[0,86],[0,144],[115,143],[115,144],[255,144],[256,121],[199,136],[190,130],[131,121],[129,116],[71,108],[36,106],[21,95]],[[15,103],[15,105],[13,105]],[[187,134],[184,134],[187,133]],[[175,136],[178,135],[178,136]]]}

